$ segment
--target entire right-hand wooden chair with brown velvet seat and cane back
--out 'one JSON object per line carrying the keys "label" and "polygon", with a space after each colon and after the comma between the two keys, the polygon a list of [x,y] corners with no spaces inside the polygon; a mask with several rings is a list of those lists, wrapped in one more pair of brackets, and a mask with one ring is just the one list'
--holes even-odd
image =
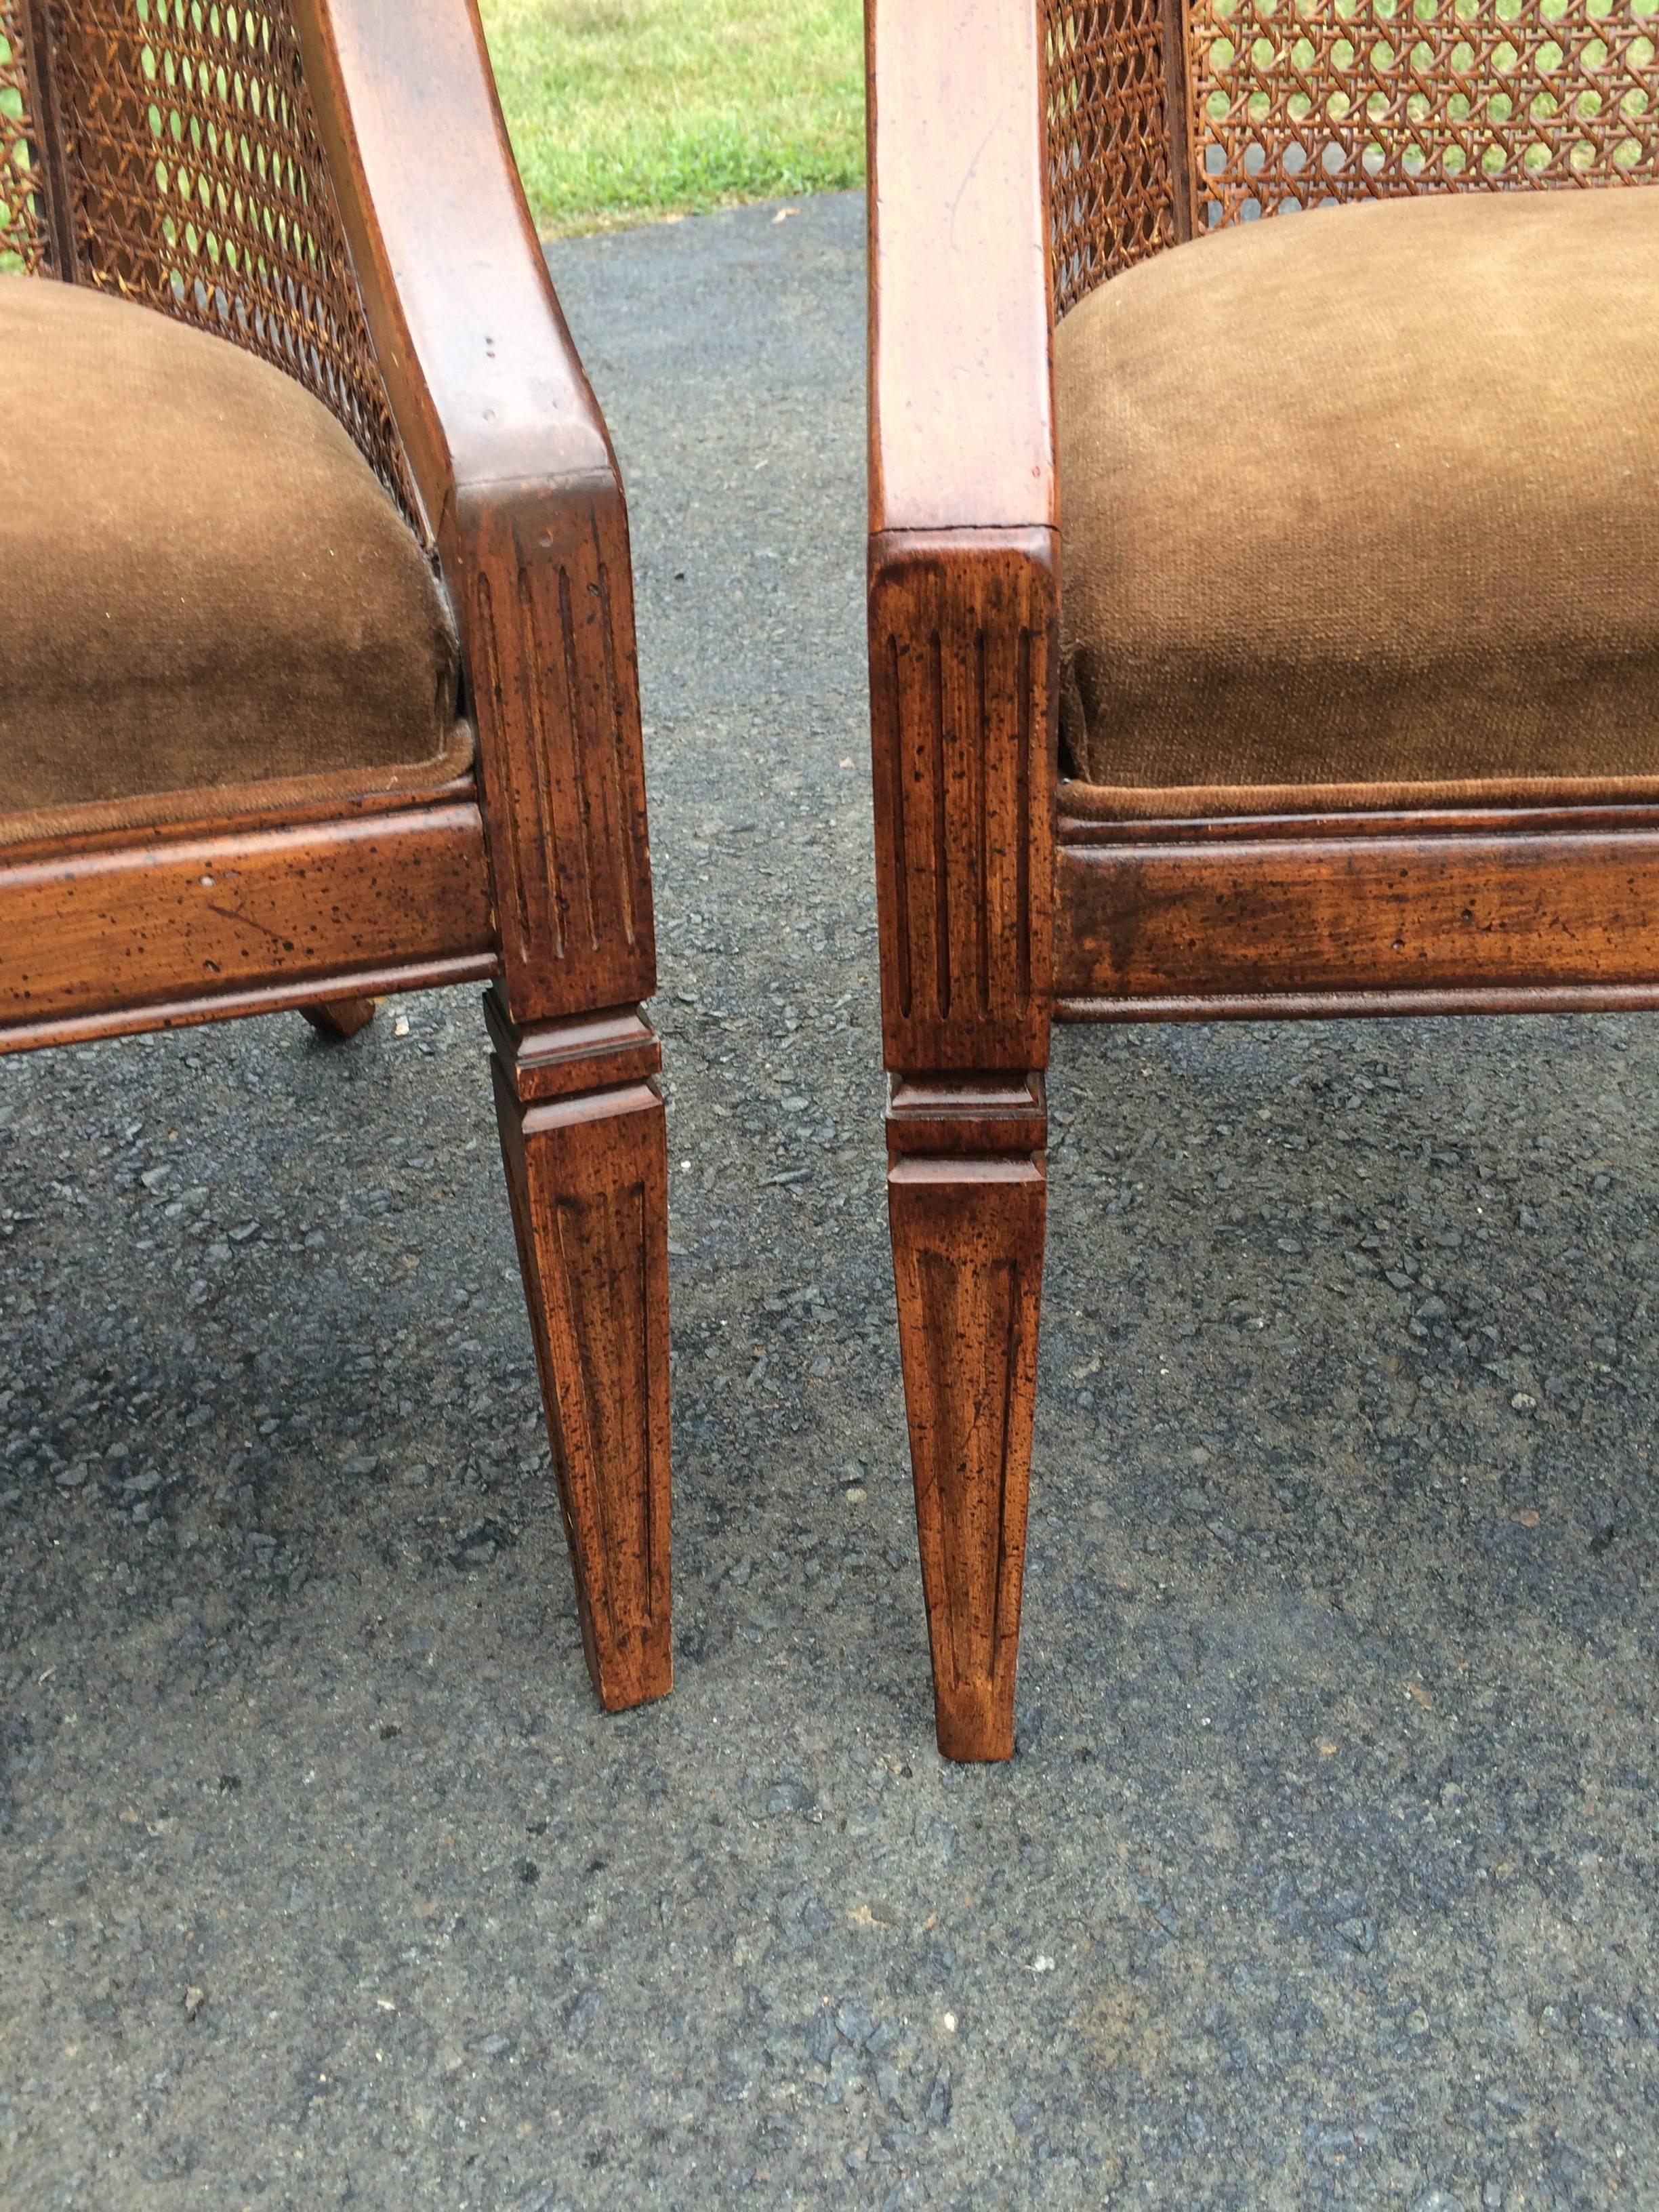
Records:
{"label": "entire right-hand wooden chair with brown velvet seat and cane back", "polygon": [[867,64],[889,1214],[1006,1759],[1051,1018],[1659,1004],[1659,192],[1582,190],[1659,64],[1626,0],[869,0]]}

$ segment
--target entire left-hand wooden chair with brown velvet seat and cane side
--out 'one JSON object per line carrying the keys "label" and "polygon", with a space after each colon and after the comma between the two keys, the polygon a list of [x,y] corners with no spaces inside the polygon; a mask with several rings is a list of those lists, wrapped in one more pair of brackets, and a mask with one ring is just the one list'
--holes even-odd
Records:
{"label": "entire left-hand wooden chair with brown velvet seat and cane side", "polygon": [[0,1051],[489,980],[588,1666],[659,1697],[628,520],[476,0],[0,0]]}

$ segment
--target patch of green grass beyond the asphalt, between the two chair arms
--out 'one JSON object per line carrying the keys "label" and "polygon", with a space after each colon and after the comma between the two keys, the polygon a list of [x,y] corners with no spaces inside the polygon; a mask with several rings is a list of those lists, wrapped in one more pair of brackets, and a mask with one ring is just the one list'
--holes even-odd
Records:
{"label": "patch of green grass beyond the asphalt, between the two chair arms", "polygon": [[863,181],[860,0],[482,0],[482,15],[544,232]]}

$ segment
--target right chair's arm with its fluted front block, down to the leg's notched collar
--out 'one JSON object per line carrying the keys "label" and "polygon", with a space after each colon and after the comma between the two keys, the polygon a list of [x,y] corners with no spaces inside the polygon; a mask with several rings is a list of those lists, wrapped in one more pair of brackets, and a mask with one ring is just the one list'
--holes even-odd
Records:
{"label": "right chair's arm with its fluted front block, down to the leg's notched collar", "polygon": [[896,1071],[1048,1060],[1057,504],[1037,0],[867,0],[869,681]]}

